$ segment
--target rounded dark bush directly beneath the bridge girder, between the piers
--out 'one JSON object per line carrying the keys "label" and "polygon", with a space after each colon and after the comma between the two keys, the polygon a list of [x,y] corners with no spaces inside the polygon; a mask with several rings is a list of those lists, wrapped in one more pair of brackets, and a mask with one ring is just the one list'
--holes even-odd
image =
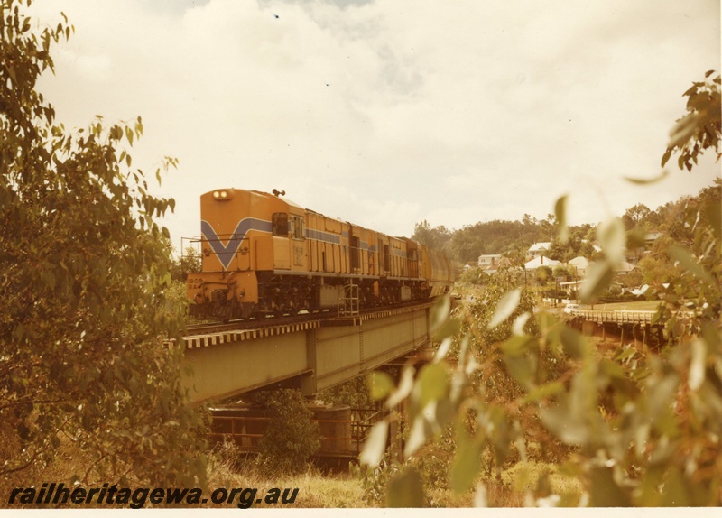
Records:
{"label": "rounded dark bush directly beneath the bridge girder, between the piers", "polygon": [[257,393],[255,402],[270,417],[261,439],[260,464],[272,473],[297,473],[308,466],[320,448],[319,423],[311,421],[299,391],[280,389]]}

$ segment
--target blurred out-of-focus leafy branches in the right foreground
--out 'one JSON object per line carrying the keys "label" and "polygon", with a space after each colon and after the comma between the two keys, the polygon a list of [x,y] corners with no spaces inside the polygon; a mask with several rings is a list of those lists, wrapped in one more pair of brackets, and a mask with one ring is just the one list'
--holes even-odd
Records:
{"label": "blurred out-of-focus leafy branches in the right foreground", "polygon": [[[704,116],[694,120],[702,131],[716,135],[699,136],[699,127],[688,131],[687,121],[689,142],[674,142],[682,157],[718,149],[718,123],[709,129]],[[495,277],[482,300],[454,315],[461,320],[460,335],[458,325],[445,322],[448,304],[437,304],[431,321],[440,347],[433,363],[415,381],[409,368],[398,387],[385,391],[389,407],[406,401],[405,419],[412,423],[403,452],[407,462],[452,425],[456,454],[449,480],[462,492],[476,484],[477,503],[486,502],[484,481],[492,472],[500,479],[504,467],[518,463],[525,469],[539,458],[579,480],[582,504],[722,504],[719,187],[716,180],[716,187],[673,204],[669,211],[677,220],[674,241],[660,245],[657,254],[666,256],[674,270],[668,285],[654,282],[648,293],[661,301],[654,322],[664,325],[668,338],[658,353],[637,344],[611,354],[597,350],[588,337],[553,315],[534,313],[514,272]],[[588,271],[583,301],[596,301],[611,289],[627,239],[634,239],[626,230],[621,218],[597,227],[604,253]],[[454,361],[447,363],[449,355]],[[386,421],[375,427],[362,462],[378,464],[387,428]],[[373,455],[370,449],[375,449]],[[525,490],[530,504],[577,503],[569,495],[554,494],[550,473]],[[388,491],[390,504],[425,503],[421,474],[412,468],[393,476]]]}

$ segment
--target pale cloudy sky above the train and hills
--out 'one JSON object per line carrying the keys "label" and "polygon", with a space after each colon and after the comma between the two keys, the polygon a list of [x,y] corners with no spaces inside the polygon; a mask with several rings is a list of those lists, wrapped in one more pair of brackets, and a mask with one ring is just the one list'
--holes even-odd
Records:
{"label": "pale cloudy sky above the train and hills", "polygon": [[[143,117],[133,166],[176,200],[285,190],[302,207],[393,236],[422,220],[572,224],[657,208],[720,175],[653,178],[682,93],[720,69],[718,0],[42,0],[75,33],[39,89],[66,127]],[[162,157],[179,167],[157,185]]]}

